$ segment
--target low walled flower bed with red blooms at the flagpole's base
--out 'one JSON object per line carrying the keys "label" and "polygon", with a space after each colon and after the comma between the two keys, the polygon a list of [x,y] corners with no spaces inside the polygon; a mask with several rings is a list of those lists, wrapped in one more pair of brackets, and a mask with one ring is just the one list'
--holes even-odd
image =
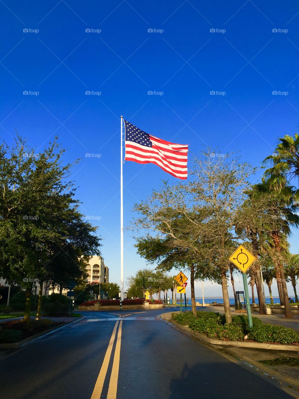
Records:
{"label": "low walled flower bed with red blooms at the flagpole's base", "polygon": [[[124,299],[122,301],[122,310],[140,310],[140,309],[161,309],[165,308],[160,300],[148,299]],[[82,302],[78,306],[79,310],[120,310],[120,300],[91,300]]]}

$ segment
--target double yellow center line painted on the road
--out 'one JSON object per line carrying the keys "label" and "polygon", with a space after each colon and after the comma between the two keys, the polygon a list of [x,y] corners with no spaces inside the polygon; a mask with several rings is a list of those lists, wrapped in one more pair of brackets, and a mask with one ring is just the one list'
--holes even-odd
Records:
{"label": "double yellow center line painted on the road", "polygon": [[116,330],[118,327],[118,323],[119,323],[119,328],[118,328],[116,347],[115,347],[115,352],[114,352],[113,365],[112,365],[112,371],[111,371],[108,394],[107,394],[107,399],[116,399],[118,370],[119,370],[119,362],[120,362],[120,343],[122,340],[122,320],[117,321],[113,328],[112,335],[111,335],[111,338],[110,338],[110,341],[108,344],[108,348],[106,350],[106,354],[104,357],[104,361],[102,363],[102,367],[100,369],[98,378],[96,379],[96,384],[94,385],[94,390],[92,392],[91,399],[100,399],[100,397],[101,397],[102,389],[104,386],[104,381],[105,381],[107,370],[108,370],[109,361],[111,358],[111,353],[112,353],[112,348],[113,348],[113,344],[114,344],[114,340],[115,340],[115,336],[116,336]]}

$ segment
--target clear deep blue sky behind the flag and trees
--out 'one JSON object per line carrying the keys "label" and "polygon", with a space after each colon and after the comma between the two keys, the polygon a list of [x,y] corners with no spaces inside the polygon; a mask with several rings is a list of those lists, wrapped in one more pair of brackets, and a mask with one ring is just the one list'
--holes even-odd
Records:
{"label": "clear deep blue sky behind the flag and trees", "polygon": [[[240,150],[254,165],[277,137],[297,131],[293,1],[4,0],[0,10],[0,136],[11,143],[17,128],[38,150],[58,134],[65,162],[82,158],[73,173],[77,197],[83,213],[101,217],[92,222],[111,281],[120,280],[120,115],[191,152],[202,144]],[[125,225],[134,202],[167,177],[176,181],[155,165],[126,162]],[[297,232],[291,243],[298,252]],[[133,244],[126,232],[125,277],[145,265]],[[220,294],[213,284],[208,295]]]}

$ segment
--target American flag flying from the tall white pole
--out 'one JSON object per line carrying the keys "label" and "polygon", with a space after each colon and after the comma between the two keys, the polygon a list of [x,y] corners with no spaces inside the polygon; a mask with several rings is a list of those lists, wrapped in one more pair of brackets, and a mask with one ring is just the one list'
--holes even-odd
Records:
{"label": "American flag flying from the tall white pole", "polygon": [[187,179],[188,145],[175,144],[151,136],[126,120],[124,126],[125,161],[155,164],[172,176]]}

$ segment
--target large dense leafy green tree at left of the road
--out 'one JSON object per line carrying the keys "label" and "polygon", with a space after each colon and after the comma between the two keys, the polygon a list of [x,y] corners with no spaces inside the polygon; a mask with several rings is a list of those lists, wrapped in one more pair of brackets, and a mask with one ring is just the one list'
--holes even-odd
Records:
{"label": "large dense leafy green tree at left of the road", "polygon": [[[39,154],[18,134],[13,146],[0,144],[0,274],[10,285],[26,290],[26,321],[33,281],[52,280],[55,273],[82,276],[80,259],[100,245],[95,228],[77,210],[79,201],[73,198],[75,186],[69,179],[73,164],[62,166],[64,152],[57,138]],[[85,242],[77,248],[83,236]],[[61,252],[72,257],[72,266],[58,262]]]}

